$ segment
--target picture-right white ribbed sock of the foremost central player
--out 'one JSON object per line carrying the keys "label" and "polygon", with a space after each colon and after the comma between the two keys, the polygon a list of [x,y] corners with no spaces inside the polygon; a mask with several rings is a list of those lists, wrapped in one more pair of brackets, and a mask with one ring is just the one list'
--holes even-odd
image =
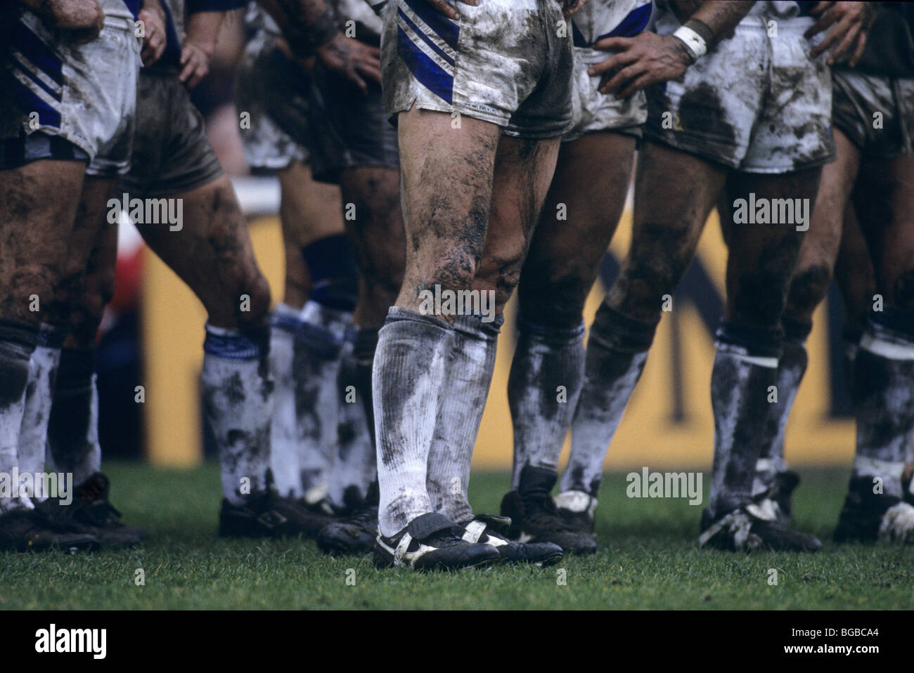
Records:
{"label": "picture-right white ribbed sock of the foremost central player", "polygon": [[480,315],[459,315],[453,325],[454,340],[445,366],[426,486],[432,509],[458,523],[473,519],[467,499],[470,462],[504,320],[501,315],[492,322],[484,322]]}

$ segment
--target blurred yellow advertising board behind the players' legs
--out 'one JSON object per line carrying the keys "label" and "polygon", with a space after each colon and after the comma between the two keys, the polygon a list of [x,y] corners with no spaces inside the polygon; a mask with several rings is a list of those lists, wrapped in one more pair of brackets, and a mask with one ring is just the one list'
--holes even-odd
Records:
{"label": "blurred yellow advertising board behind the players' legs", "polygon": [[[631,238],[631,212],[626,211],[610,247],[607,265],[621,260]],[[283,255],[279,219],[251,222],[250,235],[260,266],[276,300],[282,295]],[[676,293],[673,310],[664,314],[643,377],[613,439],[607,469],[708,468],[714,423],[709,382],[714,360],[715,321],[708,318],[724,295],[727,248],[717,225],[708,220],[696,263]],[[692,282],[690,279],[696,280]],[[689,281],[689,282],[686,282]],[[683,288],[681,288],[682,290]],[[598,281],[585,310],[590,326],[604,293]],[[834,415],[836,371],[840,358],[834,320],[829,330],[827,304],[816,313],[808,342],[809,369],[787,428],[786,457],[793,464],[849,464],[854,424]],[[203,358],[206,312],[175,274],[148,250],[144,259],[143,353],[145,360],[145,423],[149,459],[156,465],[189,467],[203,455],[197,384]],[[507,404],[507,379],[514,356],[514,301],[505,310],[492,387],[473,455],[473,468],[505,469],[511,465],[512,430]],[[840,391],[837,391],[840,392]],[[568,456],[568,442],[562,464]]]}

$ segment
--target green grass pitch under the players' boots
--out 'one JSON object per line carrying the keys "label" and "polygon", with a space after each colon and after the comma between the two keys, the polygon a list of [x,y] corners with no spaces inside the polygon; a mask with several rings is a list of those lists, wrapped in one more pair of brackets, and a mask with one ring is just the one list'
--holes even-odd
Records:
{"label": "green grass pitch under the players' boots", "polygon": [[[701,507],[685,499],[627,499],[624,475],[612,474],[602,489],[596,555],[547,569],[427,574],[377,571],[368,557],[330,558],[314,542],[220,540],[213,465],[165,471],[111,464],[106,471],[124,520],[147,528],[152,540],[122,552],[0,554],[0,610],[898,609],[914,602],[914,549],[828,542],[845,470],[802,473],[796,520],[825,542],[817,554],[699,550]],[[473,474],[474,507],[497,512],[506,483],[502,474]],[[144,586],[133,582],[138,568]],[[777,585],[768,584],[770,568],[778,570]],[[348,569],[355,585],[346,584]],[[559,569],[566,585],[557,583]]]}

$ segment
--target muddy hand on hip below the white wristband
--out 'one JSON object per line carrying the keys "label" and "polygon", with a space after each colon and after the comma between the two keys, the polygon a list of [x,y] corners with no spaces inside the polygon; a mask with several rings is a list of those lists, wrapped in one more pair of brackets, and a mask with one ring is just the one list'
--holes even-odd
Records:
{"label": "muddy hand on hip below the white wristband", "polygon": [[628,98],[651,84],[680,77],[691,56],[678,39],[655,33],[635,37],[604,37],[593,48],[618,52],[588,68],[590,76],[603,75],[601,93]]}

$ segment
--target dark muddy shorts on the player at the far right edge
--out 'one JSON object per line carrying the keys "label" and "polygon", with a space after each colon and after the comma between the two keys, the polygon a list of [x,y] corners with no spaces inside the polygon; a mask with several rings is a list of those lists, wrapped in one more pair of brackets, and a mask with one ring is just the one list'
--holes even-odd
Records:
{"label": "dark muddy shorts on the player at the far right edge", "polygon": [[911,152],[914,79],[877,77],[845,68],[832,70],[832,78],[834,128],[867,156],[892,159]]}

